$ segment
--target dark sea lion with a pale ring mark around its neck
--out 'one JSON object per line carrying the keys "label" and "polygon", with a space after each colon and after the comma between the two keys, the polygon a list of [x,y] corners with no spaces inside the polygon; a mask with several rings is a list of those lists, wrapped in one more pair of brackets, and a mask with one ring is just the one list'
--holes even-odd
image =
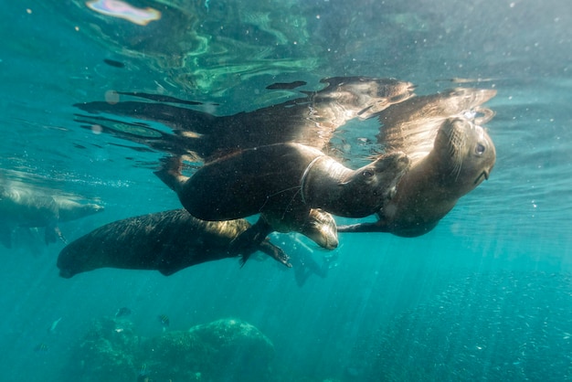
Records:
{"label": "dark sea lion with a pale ring mark around its neck", "polygon": [[[351,170],[312,147],[277,143],[230,154],[191,177],[182,175],[180,166],[179,159],[171,159],[155,174],[175,190],[194,217],[228,220],[261,214],[233,242],[239,248],[271,231],[298,231],[316,241],[302,229],[315,208],[350,218],[373,214],[392,196],[408,158],[400,153],[383,155]],[[316,243],[324,247],[323,242]]]}

